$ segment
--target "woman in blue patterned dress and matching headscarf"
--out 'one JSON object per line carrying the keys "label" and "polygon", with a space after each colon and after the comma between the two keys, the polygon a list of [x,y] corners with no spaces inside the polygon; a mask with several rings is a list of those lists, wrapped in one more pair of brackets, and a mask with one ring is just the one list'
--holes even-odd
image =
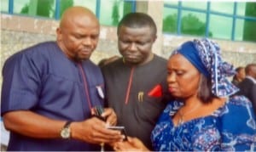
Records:
{"label": "woman in blue patterned dress and matching headscarf", "polygon": [[[154,150],[256,150],[252,104],[243,96],[230,97],[238,89],[226,77],[235,70],[222,60],[217,43],[183,43],[172,53],[167,69],[169,91],[176,100],[154,127]],[[115,144],[114,149],[148,150],[137,138]]]}

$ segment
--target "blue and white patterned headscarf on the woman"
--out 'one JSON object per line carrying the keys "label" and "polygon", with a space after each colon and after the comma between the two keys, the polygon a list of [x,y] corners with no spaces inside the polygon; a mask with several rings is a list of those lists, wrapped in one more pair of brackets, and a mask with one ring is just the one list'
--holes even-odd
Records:
{"label": "blue and white patterned headscarf on the woman", "polygon": [[214,95],[226,97],[238,91],[238,88],[227,79],[227,76],[235,75],[236,70],[233,65],[222,60],[220,51],[216,42],[204,38],[185,42],[172,54],[182,54],[197,70],[212,80]]}

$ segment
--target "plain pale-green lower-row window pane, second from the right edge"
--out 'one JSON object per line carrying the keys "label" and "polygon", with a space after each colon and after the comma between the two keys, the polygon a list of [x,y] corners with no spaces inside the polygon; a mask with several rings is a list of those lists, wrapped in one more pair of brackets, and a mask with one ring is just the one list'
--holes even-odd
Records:
{"label": "plain pale-green lower-row window pane, second from the right edge", "polygon": [[230,39],[232,32],[232,18],[210,14],[209,31],[212,37]]}

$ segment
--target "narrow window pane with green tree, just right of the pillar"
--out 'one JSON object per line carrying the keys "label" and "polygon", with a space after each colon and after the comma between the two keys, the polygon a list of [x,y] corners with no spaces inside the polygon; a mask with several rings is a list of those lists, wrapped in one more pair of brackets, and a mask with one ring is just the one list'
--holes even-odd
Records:
{"label": "narrow window pane with green tree, just right of the pillar", "polygon": [[164,8],[163,31],[177,33],[177,9]]}

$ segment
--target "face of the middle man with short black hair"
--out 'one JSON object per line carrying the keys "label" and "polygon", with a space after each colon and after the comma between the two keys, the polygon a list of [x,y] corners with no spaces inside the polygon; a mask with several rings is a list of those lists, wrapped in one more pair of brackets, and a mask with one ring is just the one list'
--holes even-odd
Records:
{"label": "face of the middle man with short black hair", "polygon": [[122,26],[118,38],[119,53],[122,54],[125,63],[143,65],[150,60],[151,48],[156,39],[150,27],[130,28]]}

